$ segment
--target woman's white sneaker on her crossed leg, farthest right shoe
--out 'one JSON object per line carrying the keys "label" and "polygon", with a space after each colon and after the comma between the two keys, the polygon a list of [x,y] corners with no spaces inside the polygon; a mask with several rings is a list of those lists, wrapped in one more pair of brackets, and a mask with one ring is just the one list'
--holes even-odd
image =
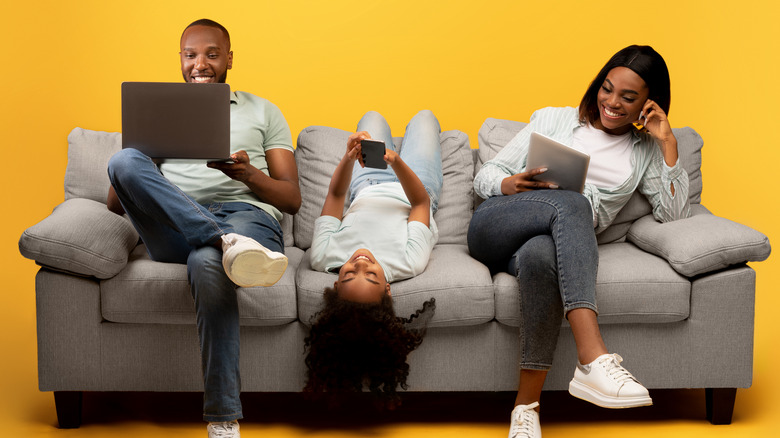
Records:
{"label": "woman's white sneaker on her crossed leg, farthest right shoe", "polygon": [[650,406],[653,399],[631,373],[620,366],[617,354],[602,354],[593,362],[577,364],[569,394],[602,408]]}

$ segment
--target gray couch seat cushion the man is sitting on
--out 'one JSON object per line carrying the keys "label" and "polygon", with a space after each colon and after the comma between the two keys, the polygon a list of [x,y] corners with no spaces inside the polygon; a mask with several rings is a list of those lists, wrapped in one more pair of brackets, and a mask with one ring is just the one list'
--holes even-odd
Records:
{"label": "gray couch seat cushion the man is sitting on", "polygon": [[[298,316],[295,271],[303,257],[298,248],[285,248],[287,271],[271,287],[238,288],[241,325],[287,324]],[[125,269],[100,283],[103,318],[141,324],[195,324],[195,305],[187,280],[187,265],[149,259],[139,245]]]}

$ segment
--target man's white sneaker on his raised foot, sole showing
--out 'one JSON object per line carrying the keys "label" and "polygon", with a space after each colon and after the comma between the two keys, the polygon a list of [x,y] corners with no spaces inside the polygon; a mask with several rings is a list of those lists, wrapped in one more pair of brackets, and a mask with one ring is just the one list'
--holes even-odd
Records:
{"label": "man's white sneaker on his raised foot, sole showing", "polygon": [[287,269],[287,257],[236,233],[222,236],[222,266],[241,287],[271,286]]}

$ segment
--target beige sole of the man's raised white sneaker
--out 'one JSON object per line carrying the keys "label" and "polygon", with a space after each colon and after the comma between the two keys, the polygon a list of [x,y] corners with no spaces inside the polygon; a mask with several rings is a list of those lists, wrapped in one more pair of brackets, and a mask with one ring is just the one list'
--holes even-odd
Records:
{"label": "beige sole of the man's raised white sneaker", "polygon": [[244,251],[233,259],[230,266],[223,267],[230,280],[238,286],[273,286],[287,269],[287,257],[274,257],[265,251]]}

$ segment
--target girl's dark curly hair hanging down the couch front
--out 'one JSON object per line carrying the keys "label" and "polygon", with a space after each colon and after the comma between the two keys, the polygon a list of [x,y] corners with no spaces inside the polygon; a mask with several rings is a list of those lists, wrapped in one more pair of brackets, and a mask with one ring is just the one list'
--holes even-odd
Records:
{"label": "girl's dark curly hair hanging down the couch front", "polygon": [[355,392],[363,385],[385,408],[400,404],[396,388],[407,389],[406,357],[421,343],[436,309],[431,298],[409,318],[395,315],[393,300],[358,303],[326,288],[325,305],[312,317],[306,337],[305,392]]}

